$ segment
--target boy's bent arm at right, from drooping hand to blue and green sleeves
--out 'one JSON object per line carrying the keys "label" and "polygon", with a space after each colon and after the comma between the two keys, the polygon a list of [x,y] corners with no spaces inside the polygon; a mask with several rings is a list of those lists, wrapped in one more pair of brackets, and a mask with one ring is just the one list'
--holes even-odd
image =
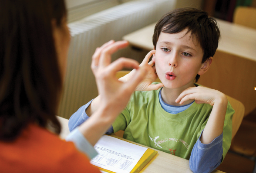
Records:
{"label": "boy's bent arm at right, from drooping hand to blue and green sleeves", "polygon": [[[188,88],[182,92],[176,102],[180,101],[182,104],[189,98],[195,99],[198,104],[208,103],[212,105],[208,121],[202,127],[201,130],[203,131],[194,145],[189,159],[189,166],[193,172],[209,173],[219,166],[230,147],[234,110],[228,104],[226,95],[210,88]],[[219,133],[220,135],[218,135]],[[215,136],[216,138],[214,138]]]}

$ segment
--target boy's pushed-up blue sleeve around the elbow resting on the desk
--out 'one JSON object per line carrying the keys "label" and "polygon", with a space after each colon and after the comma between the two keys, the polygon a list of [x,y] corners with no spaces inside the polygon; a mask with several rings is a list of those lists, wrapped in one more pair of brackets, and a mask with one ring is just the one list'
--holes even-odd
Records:
{"label": "boy's pushed-up blue sleeve around the elbow resting on the desk", "polygon": [[222,162],[223,132],[209,144],[202,144],[201,136],[202,133],[192,149],[189,167],[194,173],[210,173]]}

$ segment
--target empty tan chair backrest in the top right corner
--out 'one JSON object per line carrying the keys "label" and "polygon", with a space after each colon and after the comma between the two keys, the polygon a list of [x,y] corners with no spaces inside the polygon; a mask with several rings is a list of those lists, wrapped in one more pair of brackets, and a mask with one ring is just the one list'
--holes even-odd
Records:
{"label": "empty tan chair backrest in the top right corner", "polygon": [[256,29],[256,8],[237,7],[233,17],[234,23]]}

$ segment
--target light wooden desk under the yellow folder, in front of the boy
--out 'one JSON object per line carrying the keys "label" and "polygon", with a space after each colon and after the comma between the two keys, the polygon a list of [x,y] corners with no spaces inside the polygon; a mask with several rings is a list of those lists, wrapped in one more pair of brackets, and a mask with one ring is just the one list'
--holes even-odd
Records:
{"label": "light wooden desk under the yellow folder, in front of the boy", "polygon": [[[68,120],[65,118],[57,117],[61,122],[62,130],[60,137],[65,138],[70,132],[68,130]],[[117,136],[115,136],[117,137]],[[120,137],[117,137],[120,138]],[[122,140],[125,140],[122,138]],[[133,144],[147,147],[130,140],[125,140]],[[150,147],[148,147],[150,148]],[[153,148],[152,148],[153,149]],[[156,150],[156,149],[153,149]],[[141,170],[143,173],[192,173],[189,168],[189,160],[157,150],[158,153],[153,159]],[[141,173],[140,172],[140,173]],[[222,171],[215,170],[212,173],[223,173]]]}

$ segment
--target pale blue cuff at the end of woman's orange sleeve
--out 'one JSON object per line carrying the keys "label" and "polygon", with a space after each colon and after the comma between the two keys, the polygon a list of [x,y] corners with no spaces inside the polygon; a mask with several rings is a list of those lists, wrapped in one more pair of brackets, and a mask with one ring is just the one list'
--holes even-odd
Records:
{"label": "pale blue cuff at the end of woman's orange sleeve", "polygon": [[66,137],[66,141],[72,141],[77,149],[85,153],[90,160],[98,155],[97,151],[78,130],[78,128],[75,128],[74,131]]}

